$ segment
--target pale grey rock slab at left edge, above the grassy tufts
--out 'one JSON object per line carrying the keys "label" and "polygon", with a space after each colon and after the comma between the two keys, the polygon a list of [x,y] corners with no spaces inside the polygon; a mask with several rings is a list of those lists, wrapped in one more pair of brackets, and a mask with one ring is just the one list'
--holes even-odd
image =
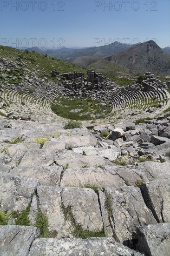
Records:
{"label": "pale grey rock slab at left edge, above the grassy tufts", "polygon": [[39,180],[20,178],[13,174],[0,172],[1,210],[25,210],[31,202]]}

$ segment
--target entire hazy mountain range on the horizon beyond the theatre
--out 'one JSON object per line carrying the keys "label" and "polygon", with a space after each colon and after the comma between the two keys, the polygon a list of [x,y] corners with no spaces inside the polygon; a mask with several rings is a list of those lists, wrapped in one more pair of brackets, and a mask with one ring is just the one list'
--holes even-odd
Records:
{"label": "entire hazy mountain range on the horizon beyond the theatre", "polygon": [[[28,51],[42,52],[39,47],[28,48]],[[43,53],[81,67],[96,67],[98,72],[101,72],[102,67],[103,69],[109,67],[111,71],[111,67],[116,68],[118,65],[118,68],[124,67],[126,71],[133,73],[147,71],[158,75],[170,73],[170,47],[162,49],[153,40],[135,45],[114,42],[110,45],[82,49],[63,47],[56,50],[49,49]],[[107,61],[114,65],[111,66]]]}

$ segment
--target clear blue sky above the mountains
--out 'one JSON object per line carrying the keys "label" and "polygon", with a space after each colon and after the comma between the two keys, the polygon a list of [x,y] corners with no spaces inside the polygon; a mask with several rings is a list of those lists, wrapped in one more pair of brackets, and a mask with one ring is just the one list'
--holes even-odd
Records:
{"label": "clear blue sky above the mountains", "polygon": [[167,47],[170,1],[0,0],[0,39],[12,47],[93,47],[151,39]]}

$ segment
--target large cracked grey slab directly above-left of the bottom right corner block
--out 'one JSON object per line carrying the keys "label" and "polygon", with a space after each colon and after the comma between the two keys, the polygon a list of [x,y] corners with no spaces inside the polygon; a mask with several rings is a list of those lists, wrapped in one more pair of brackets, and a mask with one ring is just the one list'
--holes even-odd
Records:
{"label": "large cracked grey slab directly above-left of the bottom right corner block", "polygon": [[157,223],[137,187],[105,189],[105,204],[101,204],[101,211],[104,228],[108,229],[109,219],[112,236],[127,245],[129,240],[137,238],[137,226]]}

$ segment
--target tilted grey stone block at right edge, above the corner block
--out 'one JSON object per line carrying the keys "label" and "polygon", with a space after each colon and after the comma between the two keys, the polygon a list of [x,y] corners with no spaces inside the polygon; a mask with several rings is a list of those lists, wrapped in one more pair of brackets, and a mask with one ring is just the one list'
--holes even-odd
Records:
{"label": "tilted grey stone block at right edge, above the corner block", "polygon": [[140,189],[157,222],[170,222],[170,181],[144,182]]}

